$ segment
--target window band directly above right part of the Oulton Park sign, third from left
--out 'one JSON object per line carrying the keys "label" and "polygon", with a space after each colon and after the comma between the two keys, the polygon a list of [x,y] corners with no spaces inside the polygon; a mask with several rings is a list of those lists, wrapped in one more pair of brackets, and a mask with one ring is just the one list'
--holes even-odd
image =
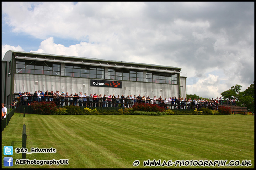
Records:
{"label": "window band directly above right part of the Oulton Park sign, third from left", "polygon": [[143,81],[143,72],[128,69],[108,69],[108,79],[126,80],[126,81]]}

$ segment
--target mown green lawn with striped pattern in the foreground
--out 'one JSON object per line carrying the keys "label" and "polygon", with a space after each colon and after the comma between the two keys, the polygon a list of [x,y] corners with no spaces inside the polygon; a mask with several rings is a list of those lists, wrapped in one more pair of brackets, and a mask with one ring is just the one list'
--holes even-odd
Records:
{"label": "mown green lawn with striped pattern in the foreground", "polygon": [[[23,117],[15,113],[2,132],[2,149],[10,145],[14,149],[22,147],[23,124],[27,128],[29,151],[31,147],[57,150],[52,154],[27,154],[27,159],[69,159],[69,165],[14,164],[10,168],[144,168],[143,161],[148,159],[228,162],[247,159],[252,164],[247,168],[254,168],[254,116],[26,114]],[[12,157],[15,162],[22,155],[14,152]],[[132,165],[135,160],[140,161],[137,167]],[[6,168],[3,163],[2,168]]]}

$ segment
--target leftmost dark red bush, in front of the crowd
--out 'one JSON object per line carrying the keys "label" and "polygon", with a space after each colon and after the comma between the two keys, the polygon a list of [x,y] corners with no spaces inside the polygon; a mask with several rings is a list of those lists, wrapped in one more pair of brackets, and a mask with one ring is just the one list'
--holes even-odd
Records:
{"label": "leftmost dark red bush, in front of the crowd", "polygon": [[34,114],[54,114],[57,110],[57,106],[54,102],[35,101],[30,104],[30,107],[34,110]]}

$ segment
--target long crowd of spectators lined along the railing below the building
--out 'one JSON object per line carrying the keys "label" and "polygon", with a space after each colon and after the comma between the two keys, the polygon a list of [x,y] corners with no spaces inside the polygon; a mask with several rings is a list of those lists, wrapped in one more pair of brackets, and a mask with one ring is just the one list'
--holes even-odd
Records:
{"label": "long crowd of spectators lined along the railing below the building", "polygon": [[[75,93],[69,94],[68,92],[60,93],[59,91],[50,91],[48,90],[43,93],[41,90],[35,91],[34,93],[24,92],[19,93],[18,96],[19,104],[21,105],[30,105],[34,101],[46,101],[50,102],[53,101],[57,106],[90,106],[90,107],[132,107],[135,103],[146,103],[146,104],[158,104],[159,106],[170,108],[170,109],[200,109],[202,107],[210,108],[210,109],[217,109],[218,105],[222,104],[235,104],[235,100],[223,100],[222,98],[215,98],[210,99],[207,98],[198,98],[198,99],[191,99],[191,98],[176,98],[176,97],[169,97],[169,98],[162,98],[154,96],[150,98],[149,96],[136,96],[136,95],[128,95],[128,96],[115,96],[113,95],[86,95],[86,93],[79,94]],[[16,103],[18,102],[16,99],[12,101],[12,108],[16,107]],[[119,105],[120,104],[120,105]]]}

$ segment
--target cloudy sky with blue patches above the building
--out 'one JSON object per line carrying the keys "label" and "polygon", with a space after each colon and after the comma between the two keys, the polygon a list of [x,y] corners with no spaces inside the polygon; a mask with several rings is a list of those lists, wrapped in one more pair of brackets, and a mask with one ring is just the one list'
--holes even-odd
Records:
{"label": "cloudy sky with blue patches above the building", "polygon": [[254,2],[2,2],[8,50],[178,67],[216,98],[254,82]]}

